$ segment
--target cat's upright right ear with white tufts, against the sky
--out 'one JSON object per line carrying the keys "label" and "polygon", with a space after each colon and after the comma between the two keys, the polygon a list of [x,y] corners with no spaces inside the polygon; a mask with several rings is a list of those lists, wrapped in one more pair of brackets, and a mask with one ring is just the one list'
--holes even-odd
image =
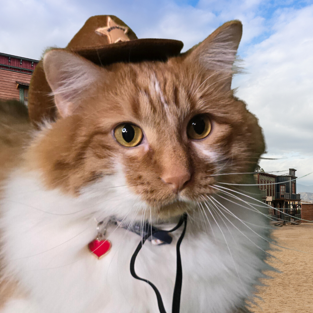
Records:
{"label": "cat's upright right ear with white tufts, against the sky", "polygon": [[242,35],[242,23],[234,20],[216,29],[203,42],[187,51],[187,60],[198,61],[201,67],[228,76],[231,84],[233,63]]}

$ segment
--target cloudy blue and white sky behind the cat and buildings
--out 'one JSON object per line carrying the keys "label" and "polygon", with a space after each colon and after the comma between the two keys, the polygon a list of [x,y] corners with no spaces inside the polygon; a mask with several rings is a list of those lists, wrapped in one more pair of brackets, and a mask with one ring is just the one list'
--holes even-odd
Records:
{"label": "cloudy blue and white sky behind the cat and buildings", "polygon": [[[313,171],[313,0],[10,0],[2,1],[0,52],[39,59],[65,47],[92,15],[114,14],[138,38],[172,38],[183,51],[231,19],[244,26],[239,55],[246,74],[234,78],[264,130],[267,171]],[[312,184],[313,175],[299,180]]]}

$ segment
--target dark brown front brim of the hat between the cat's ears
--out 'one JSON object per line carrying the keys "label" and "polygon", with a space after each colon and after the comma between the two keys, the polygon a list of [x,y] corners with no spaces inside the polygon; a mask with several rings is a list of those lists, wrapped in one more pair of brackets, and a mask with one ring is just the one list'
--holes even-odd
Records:
{"label": "dark brown front brim of the hat between the cat's ears", "polygon": [[99,65],[115,62],[140,62],[159,60],[179,55],[183,43],[173,39],[135,39],[108,44],[103,47],[84,47],[84,49],[66,50],[76,52],[82,57]]}

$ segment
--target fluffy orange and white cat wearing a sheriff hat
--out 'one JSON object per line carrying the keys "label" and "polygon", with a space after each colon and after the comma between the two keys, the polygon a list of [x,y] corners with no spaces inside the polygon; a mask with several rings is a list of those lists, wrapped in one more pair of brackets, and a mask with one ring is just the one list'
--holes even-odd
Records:
{"label": "fluffy orange and white cat wearing a sheriff hat", "polygon": [[[227,174],[253,172],[264,152],[257,118],[231,90],[241,34],[228,22],[164,62],[44,55],[59,118],[26,126],[31,138],[3,182],[1,313],[159,312],[130,273],[141,236],[119,224],[170,229],[184,213],[180,312],[249,311],[270,269],[271,233],[258,189],[228,185],[251,184],[250,174]],[[112,217],[120,223],[107,225],[112,246],[98,259],[88,244]],[[135,264],[167,312],[180,234],[146,242]]]}

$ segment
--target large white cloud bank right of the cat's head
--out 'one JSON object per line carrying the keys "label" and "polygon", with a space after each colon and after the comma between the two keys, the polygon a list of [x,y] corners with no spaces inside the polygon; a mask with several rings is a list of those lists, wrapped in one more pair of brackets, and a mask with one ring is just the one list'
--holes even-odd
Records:
{"label": "large white cloud bank right of the cat's head", "polygon": [[313,6],[284,10],[273,29],[248,50],[250,74],[233,86],[259,118],[269,156],[283,158],[261,161],[264,169],[295,167],[302,176],[313,171]]}

